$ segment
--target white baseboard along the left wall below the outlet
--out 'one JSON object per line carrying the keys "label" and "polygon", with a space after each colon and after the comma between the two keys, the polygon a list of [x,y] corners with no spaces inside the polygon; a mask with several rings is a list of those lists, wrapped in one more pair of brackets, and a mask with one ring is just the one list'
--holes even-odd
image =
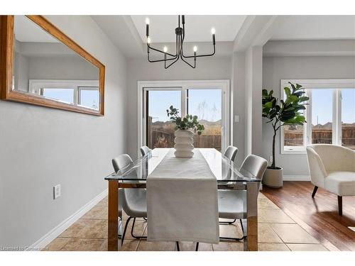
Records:
{"label": "white baseboard along the left wall below the outlet", "polygon": [[87,213],[90,209],[92,209],[93,206],[99,203],[102,199],[104,199],[105,196],[107,196],[107,189],[104,190],[101,194],[97,195],[89,201],[87,204],[82,206],[79,210],[75,212],[75,214],[72,214],[72,216],[66,218],[62,223],[58,224],[58,226],[55,226],[51,231],[43,235],[42,238],[39,240],[35,241],[33,245],[27,248],[27,250],[42,250],[45,248],[46,245],[48,245],[50,242],[55,240],[55,238],[58,237],[62,232],[67,230],[73,223],[75,223],[77,220],[79,220],[80,217],[82,217],[84,214]]}

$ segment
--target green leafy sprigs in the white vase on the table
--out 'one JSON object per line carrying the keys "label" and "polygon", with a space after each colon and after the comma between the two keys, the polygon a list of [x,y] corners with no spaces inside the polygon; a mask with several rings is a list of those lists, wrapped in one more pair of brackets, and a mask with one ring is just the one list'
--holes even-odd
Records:
{"label": "green leafy sprigs in the white vase on the table", "polygon": [[202,131],[204,131],[204,126],[197,121],[197,116],[192,116],[187,114],[184,118],[179,116],[179,109],[170,106],[169,109],[166,110],[168,117],[170,117],[170,121],[175,123],[175,130],[188,131],[192,130],[197,135],[201,135]]}

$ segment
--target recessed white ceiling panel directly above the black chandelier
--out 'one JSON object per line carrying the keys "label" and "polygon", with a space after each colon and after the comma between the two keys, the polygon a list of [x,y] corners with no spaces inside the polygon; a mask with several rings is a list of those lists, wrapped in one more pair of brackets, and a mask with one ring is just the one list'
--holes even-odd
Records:
{"label": "recessed white ceiling panel directly above the black chandelier", "polygon": [[[146,18],[151,21],[152,43],[175,42],[178,16],[131,16],[143,42],[146,42]],[[212,41],[211,28],[216,30],[217,41],[233,41],[246,16],[185,16],[185,42]]]}

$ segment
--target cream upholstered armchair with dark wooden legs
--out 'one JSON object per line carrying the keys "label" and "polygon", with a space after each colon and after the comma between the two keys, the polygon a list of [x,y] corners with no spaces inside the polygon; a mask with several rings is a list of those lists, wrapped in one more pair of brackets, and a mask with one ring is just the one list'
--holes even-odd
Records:
{"label": "cream upholstered armchair with dark wooden legs", "polygon": [[342,196],[355,196],[355,151],[337,145],[307,146],[310,177],[315,189],[326,189],[338,196],[339,215],[342,215]]}

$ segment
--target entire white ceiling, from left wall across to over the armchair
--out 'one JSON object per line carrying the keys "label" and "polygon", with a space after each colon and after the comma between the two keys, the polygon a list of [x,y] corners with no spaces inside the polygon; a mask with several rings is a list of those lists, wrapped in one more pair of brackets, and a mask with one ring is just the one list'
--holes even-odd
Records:
{"label": "entire white ceiling, from left wall across to over the armchair", "polygon": [[[128,58],[146,58],[147,16],[92,16]],[[178,16],[148,16],[154,47],[173,50]],[[185,48],[211,50],[211,28],[216,29],[216,56],[230,56],[236,44],[262,40],[355,40],[355,16],[185,16]],[[260,39],[260,40],[259,40]],[[264,40],[265,39],[265,40]],[[261,45],[263,45],[261,44]],[[254,44],[255,45],[255,44]]]}

